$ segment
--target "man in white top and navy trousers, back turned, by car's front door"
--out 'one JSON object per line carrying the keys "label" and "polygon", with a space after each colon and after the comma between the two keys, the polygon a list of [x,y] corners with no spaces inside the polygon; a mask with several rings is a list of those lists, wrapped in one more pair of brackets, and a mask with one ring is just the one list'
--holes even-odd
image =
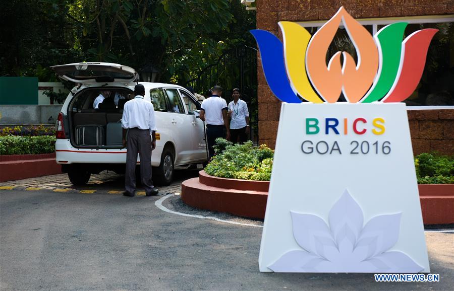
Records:
{"label": "man in white top and navy trousers, back turned, by car's front door", "polygon": [[200,119],[206,121],[206,139],[208,143],[209,158],[214,156],[214,141],[218,137],[225,137],[224,126],[226,129],[226,139],[230,139],[229,119],[227,117],[227,102],[220,96],[222,87],[214,86],[211,89],[212,95],[203,100],[200,109]]}

